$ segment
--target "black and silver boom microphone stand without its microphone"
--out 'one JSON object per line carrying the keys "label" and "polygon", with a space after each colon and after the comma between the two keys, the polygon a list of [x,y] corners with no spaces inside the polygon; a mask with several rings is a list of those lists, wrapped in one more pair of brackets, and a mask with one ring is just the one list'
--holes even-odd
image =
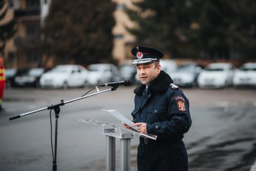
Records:
{"label": "black and silver boom microphone stand without its microphone", "polygon": [[87,98],[87,97],[90,97],[90,96],[106,93],[108,91],[114,91],[118,87],[119,87],[119,85],[115,85],[115,86],[112,86],[112,88],[110,88],[108,90],[99,91],[98,87],[96,86],[97,93],[93,93],[93,94],[90,94],[90,95],[87,95],[87,96],[79,97],[79,98],[76,98],[76,99],[73,99],[73,100],[70,100],[70,101],[61,100],[61,102],[58,103],[58,104],[54,104],[54,105],[47,106],[47,107],[44,107],[44,108],[41,108],[41,109],[38,109],[38,110],[34,110],[34,111],[31,111],[31,112],[27,112],[27,113],[23,113],[23,114],[20,114],[20,115],[17,115],[17,116],[13,116],[13,117],[10,117],[9,119],[13,120],[13,119],[17,119],[17,118],[20,118],[22,116],[26,116],[26,115],[29,115],[29,114],[32,114],[32,113],[40,112],[42,110],[54,109],[54,112],[55,112],[55,144],[54,144],[54,157],[53,157],[53,161],[52,161],[52,163],[53,163],[52,171],[57,171],[57,161],[56,161],[56,159],[57,159],[57,134],[58,134],[58,118],[59,118],[59,113],[61,111],[60,106],[63,106],[64,104],[71,103],[71,102],[77,101],[77,100],[81,100],[81,99],[84,99],[84,98]]}

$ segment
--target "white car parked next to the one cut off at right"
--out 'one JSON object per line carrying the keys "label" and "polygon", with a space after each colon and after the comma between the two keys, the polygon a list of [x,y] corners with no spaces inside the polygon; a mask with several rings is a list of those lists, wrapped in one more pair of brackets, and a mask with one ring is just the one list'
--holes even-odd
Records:
{"label": "white car parked next to the one cut off at right", "polygon": [[200,88],[224,88],[232,84],[235,67],[231,63],[209,64],[198,75]]}

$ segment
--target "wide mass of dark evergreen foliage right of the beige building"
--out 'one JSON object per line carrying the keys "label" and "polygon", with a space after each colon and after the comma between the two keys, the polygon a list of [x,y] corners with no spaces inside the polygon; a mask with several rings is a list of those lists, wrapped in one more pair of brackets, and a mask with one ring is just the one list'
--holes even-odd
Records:
{"label": "wide mass of dark evergreen foliage right of the beige building", "polygon": [[143,0],[134,5],[138,8],[126,12],[138,24],[129,29],[138,43],[174,57],[256,55],[255,0]]}

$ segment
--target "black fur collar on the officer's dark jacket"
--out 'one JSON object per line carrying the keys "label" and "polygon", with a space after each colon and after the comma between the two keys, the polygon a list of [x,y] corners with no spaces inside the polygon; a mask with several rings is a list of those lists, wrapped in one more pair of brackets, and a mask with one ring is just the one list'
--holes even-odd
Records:
{"label": "black fur collar on the officer's dark jacket", "polygon": [[[160,71],[160,74],[155,78],[151,84],[148,86],[148,89],[151,92],[157,92],[157,93],[164,93],[169,84],[173,83],[172,78],[166,74],[163,70]],[[146,85],[140,84],[136,89],[134,89],[134,93],[137,95],[142,95],[143,90],[145,89]]]}

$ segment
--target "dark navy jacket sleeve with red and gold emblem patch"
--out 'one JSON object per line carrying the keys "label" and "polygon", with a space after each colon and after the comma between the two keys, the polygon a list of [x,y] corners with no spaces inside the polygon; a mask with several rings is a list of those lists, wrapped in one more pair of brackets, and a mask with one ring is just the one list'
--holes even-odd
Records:
{"label": "dark navy jacket sleeve with red and gold emblem patch", "polygon": [[147,132],[157,135],[157,139],[172,139],[183,135],[191,126],[189,100],[181,90],[173,91],[167,108],[168,120],[147,124]]}

